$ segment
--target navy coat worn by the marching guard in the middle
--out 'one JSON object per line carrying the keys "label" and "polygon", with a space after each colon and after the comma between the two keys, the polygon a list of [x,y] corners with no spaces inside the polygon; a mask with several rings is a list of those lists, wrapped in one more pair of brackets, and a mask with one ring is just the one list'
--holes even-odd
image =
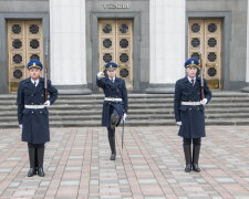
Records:
{"label": "navy coat worn by the marching guard in the middle", "polygon": [[117,111],[120,118],[123,117],[123,109],[126,114],[128,112],[128,98],[125,81],[115,77],[115,81],[113,83],[108,77],[103,77],[100,80],[96,78],[96,84],[98,87],[103,88],[105,97],[122,98],[122,102],[103,102],[102,126],[110,127],[111,106],[113,106]]}

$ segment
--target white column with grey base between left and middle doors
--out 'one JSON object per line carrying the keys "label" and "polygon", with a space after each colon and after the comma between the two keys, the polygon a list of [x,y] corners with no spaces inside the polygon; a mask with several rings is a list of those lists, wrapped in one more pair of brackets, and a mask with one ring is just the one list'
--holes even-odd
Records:
{"label": "white column with grey base between left and middle doors", "polygon": [[50,73],[60,94],[90,94],[85,0],[50,0]]}

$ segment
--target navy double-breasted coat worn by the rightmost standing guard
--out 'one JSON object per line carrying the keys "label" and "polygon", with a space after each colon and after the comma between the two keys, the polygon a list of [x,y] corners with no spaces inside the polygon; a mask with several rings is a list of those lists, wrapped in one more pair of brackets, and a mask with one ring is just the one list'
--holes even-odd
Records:
{"label": "navy double-breasted coat worn by the rightmost standing guard", "polygon": [[[211,100],[211,92],[204,80],[204,94],[208,102]],[[205,114],[204,106],[181,105],[181,102],[200,101],[200,78],[196,77],[195,85],[188,81],[187,76],[180,78],[175,85],[174,112],[176,122],[181,122],[178,135],[185,138],[205,137]]]}

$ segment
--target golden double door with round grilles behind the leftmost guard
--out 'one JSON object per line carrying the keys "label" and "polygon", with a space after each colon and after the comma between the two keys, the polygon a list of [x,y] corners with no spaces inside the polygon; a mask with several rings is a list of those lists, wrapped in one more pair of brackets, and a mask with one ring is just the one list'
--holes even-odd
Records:
{"label": "golden double door with round grilles behind the leftmost guard", "polygon": [[41,21],[8,21],[9,91],[17,92],[20,81],[29,77],[27,63],[43,62]]}

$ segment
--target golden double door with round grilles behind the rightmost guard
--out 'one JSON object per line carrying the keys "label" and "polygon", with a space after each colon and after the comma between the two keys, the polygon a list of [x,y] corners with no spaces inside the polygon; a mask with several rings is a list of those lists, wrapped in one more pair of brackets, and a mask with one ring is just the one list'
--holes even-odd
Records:
{"label": "golden double door with round grilles behind the rightmost guard", "polygon": [[221,88],[221,19],[193,19],[188,25],[188,57],[199,60],[210,88]]}

